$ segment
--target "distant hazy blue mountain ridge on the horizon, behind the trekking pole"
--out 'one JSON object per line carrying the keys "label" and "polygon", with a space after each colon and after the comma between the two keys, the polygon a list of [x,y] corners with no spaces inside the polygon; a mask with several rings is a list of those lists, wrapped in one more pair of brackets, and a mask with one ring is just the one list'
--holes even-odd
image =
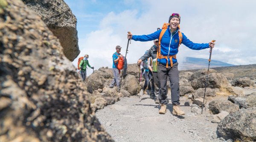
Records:
{"label": "distant hazy blue mountain ridge on the horizon, behind the trekking pole", "polygon": [[[208,68],[209,61],[205,58],[194,58],[194,57],[185,57],[183,64],[179,66],[179,70],[193,70],[193,69],[202,69]],[[210,67],[230,67],[235,66],[234,64],[228,64],[222,61],[211,60]]]}

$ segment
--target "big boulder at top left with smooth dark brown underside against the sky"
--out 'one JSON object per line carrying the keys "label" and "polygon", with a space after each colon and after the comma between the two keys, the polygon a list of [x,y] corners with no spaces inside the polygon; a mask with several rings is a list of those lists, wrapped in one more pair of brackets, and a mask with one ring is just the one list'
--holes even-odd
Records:
{"label": "big boulder at top left with smooth dark brown underside against the sky", "polygon": [[80,53],[76,17],[64,0],[22,0],[57,36],[64,55],[73,61]]}

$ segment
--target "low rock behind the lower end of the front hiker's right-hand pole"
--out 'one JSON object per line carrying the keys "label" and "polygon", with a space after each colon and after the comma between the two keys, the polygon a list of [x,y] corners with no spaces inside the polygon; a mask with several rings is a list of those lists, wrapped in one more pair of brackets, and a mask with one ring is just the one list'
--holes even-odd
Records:
{"label": "low rock behind the lower end of the front hiker's right-hand pole", "polygon": [[[195,90],[193,93],[194,98],[204,98],[204,90],[205,88],[198,88]],[[211,89],[211,88],[206,88],[205,96],[207,97],[214,97],[216,96],[216,92],[219,92],[218,88]]]}

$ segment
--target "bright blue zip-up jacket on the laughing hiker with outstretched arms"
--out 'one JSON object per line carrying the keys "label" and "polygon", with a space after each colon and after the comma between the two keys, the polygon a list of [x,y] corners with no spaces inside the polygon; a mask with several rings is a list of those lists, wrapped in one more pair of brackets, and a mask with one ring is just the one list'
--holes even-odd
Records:
{"label": "bright blue zip-up jacket on the laughing hiker with outstretched arms", "polygon": [[[148,35],[141,35],[141,36],[133,35],[132,39],[135,41],[141,41],[141,42],[151,41],[154,39],[158,39],[161,31],[162,31],[162,29],[158,30],[154,33],[148,34]],[[161,39],[161,54],[163,56],[172,56],[172,55],[177,54],[178,47],[179,47],[179,41],[180,41],[180,39],[179,39],[178,30],[171,33],[171,30],[168,26],[166,32],[163,34],[163,37]],[[193,43],[184,35],[184,33],[182,33],[182,42],[181,43],[183,45],[186,45],[186,47],[189,47],[190,49],[193,49],[193,50],[201,50],[201,49],[209,48],[208,43],[202,43],[202,44]],[[160,62],[161,64],[166,65],[165,58],[157,59],[157,61]],[[177,59],[172,58],[172,61],[173,61],[173,63],[176,63]],[[169,65],[171,64],[169,58],[168,58],[168,64]]]}

